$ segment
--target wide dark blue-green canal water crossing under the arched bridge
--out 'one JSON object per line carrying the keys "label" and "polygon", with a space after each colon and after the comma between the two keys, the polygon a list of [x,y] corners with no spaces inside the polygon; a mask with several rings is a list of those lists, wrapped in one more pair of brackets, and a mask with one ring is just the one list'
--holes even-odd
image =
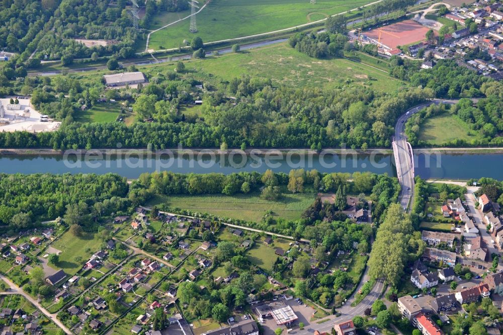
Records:
{"label": "wide dark blue-green canal water crossing under the arched bridge", "polygon": [[[466,180],[491,177],[503,180],[503,154],[415,154],[415,174],[424,179]],[[370,171],[396,176],[391,154],[251,155],[194,154],[193,156],[103,156],[2,155],[0,173],[116,173],[135,179],[145,172],[223,173],[271,169],[288,173],[291,169],[319,172]]]}

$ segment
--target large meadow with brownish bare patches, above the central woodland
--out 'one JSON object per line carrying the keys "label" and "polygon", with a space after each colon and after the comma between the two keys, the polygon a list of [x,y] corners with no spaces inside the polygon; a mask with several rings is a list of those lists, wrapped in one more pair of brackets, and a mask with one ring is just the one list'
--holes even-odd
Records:
{"label": "large meadow with brownish bare patches, above the central woodland", "polygon": [[[374,60],[362,54],[358,56],[363,62]],[[384,67],[385,63],[379,65]],[[192,60],[186,66],[212,73],[224,80],[230,80],[241,74],[271,78],[278,86],[336,88],[341,83],[354,82],[379,91],[393,92],[405,85],[403,81],[391,78],[387,73],[370,66],[344,58],[311,58],[290,48],[286,43],[204,60]]]}

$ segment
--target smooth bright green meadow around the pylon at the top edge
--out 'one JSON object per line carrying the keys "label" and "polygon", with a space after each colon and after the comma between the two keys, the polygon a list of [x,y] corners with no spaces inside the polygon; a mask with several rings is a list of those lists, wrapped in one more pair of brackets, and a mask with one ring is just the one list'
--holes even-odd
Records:
{"label": "smooth bright green meadow around the pylon at the top edge", "polygon": [[[324,19],[371,2],[317,0],[315,5],[311,5],[309,0],[210,0],[196,16],[197,34],[189,32],[190,20],[183,20],[153,33],[148,49],[177,48],[184,40],[190,41],[196,35],[204,42],[211,42],[285,29]],[[200,1],[200,4],[203,2]],[[174,22],[184,14],[154,17],[153,27],[156,29]]]}

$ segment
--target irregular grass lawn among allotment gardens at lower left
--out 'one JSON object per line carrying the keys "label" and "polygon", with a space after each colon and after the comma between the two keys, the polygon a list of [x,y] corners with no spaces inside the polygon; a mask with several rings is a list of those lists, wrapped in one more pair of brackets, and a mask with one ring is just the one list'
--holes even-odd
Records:
{"label": "irregular grass lawn among allotment gardens at lower left", "polygon": [[[100,250],[101,243],[102,240],[98,234],[84,233],[81,237],[76,237],[69,231],[65,232],[52,243],[53,247],[62,252],[59,255],[58,268],[63,269],[69,275],[77,273],[88,258]],[[76,257],[80,257],[82,261],[75,261]]]}

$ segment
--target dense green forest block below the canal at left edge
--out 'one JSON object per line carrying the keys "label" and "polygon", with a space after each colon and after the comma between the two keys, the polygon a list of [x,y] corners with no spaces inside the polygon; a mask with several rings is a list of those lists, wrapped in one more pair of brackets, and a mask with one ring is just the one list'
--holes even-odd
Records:
{"label": "dense green forest block below the canal at left edge", "polygon": [[12,229],[70,215],[93,229],[93,218],[126,211],[128,186],[118,175],[0,174],[0,222]]}

